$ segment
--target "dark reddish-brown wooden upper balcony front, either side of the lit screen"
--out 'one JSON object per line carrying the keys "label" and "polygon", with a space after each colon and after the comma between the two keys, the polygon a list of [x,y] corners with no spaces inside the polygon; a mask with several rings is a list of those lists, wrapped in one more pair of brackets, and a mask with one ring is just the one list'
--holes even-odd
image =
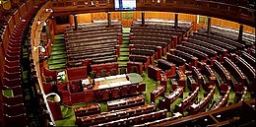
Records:
{"label": "dark reddish-brown wooden upper balcony front, either side of the lit screen", "polygon": [[[209,0],[136,0],[137,11],[176,12],[216,17],[255,27],[255,10]],[[114,0],[51,0],[54,14],[115,11]]]}

